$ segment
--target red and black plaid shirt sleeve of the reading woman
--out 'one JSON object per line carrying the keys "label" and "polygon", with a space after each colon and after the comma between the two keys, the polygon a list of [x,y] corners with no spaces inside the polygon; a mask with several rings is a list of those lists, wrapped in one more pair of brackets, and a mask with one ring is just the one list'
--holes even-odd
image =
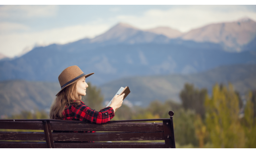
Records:
{"label": "red and black plaid shirt sleeve of the reading woman", "polygon": [[88,121],[90,123],[103,124],[112,119],[115,114],[112,107],[104,108],[100,111],[92,110],[86,105],[71,106],[72,116],[75,120]]}

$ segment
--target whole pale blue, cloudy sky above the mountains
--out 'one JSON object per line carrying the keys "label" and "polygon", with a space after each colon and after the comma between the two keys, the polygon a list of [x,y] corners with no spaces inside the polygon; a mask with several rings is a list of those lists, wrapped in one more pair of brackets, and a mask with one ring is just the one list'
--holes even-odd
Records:
{"label": "whole pale blue, cloudy sky above the mountains", "polygon": [[0,54],[94,38],[120,22],[188,32],[244,17],[256,21],[256,5],[0,5]]}

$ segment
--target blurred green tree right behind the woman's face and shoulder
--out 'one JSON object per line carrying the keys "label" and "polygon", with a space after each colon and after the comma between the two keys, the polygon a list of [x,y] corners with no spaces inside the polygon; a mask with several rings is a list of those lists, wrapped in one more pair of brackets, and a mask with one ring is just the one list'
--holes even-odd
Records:
{"label": "blurred green tree right behind the woman's face and shoulder", "polygon": [[90,82],[87,84],[86,95],[82,96],[82,101],[90,108],[100,111],[104,108],[104,106],[102,106],[104,96],[102,95],[100,88],[91,85]]}

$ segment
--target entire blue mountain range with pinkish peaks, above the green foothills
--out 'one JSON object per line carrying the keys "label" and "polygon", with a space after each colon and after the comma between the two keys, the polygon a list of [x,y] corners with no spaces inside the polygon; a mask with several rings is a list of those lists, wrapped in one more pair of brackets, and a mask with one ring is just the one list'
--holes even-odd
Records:
{"label": "entire blue mountain range with pinkish peaks, above the green foothills", "polygon": [[[221,65],[256,64],[255,24],[251,19],[243,19],[204,26],[178,36],[179,32],[170,28],[140,30],[119,23],[93,39],[35,47],[16,59],[0,60],[0,81],[56,82],[62,70],[71,65],[79,66],[85,73],[95,72],[89,81],[102,85],[122,77],[191,74]],[[163,35],[161,29],[169,32]],[[170,33],[177,38],[169,38]],[[240,52],[237,47],[232,50],[229,41],[222,39],[226,35],[239,45]]]}

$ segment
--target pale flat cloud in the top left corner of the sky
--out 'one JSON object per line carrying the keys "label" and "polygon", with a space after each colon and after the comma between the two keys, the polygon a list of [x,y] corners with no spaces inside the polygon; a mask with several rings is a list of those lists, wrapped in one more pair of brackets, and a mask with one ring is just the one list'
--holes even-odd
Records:
{"label": "pale flat cloud in the top left corner of the sky", "polygon": [[0,18],[50,17],[55,16],[57,10],[55,5],[4,5],[0,6]]}

